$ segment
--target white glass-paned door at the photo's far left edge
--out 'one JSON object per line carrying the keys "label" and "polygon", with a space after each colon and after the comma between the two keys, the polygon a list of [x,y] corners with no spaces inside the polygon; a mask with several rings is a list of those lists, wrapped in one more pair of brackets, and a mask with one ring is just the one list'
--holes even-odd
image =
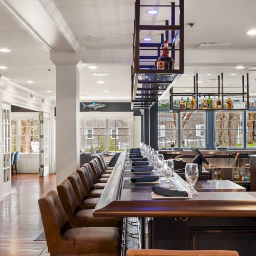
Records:
{"label": "white glass-paned door at the photo's far left edge", "polygon": [[[3,196],[11,193],[11,105],[3,103],[2,109],[2,135],[3,135]],[[1,148],[1,150],[2,150]]]}

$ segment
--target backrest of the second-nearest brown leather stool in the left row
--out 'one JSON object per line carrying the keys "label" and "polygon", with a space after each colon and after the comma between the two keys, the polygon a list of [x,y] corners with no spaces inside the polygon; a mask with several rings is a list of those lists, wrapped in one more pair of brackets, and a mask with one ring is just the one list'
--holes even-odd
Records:
{"label": "backrest of the second-nearest brown leather stool in the left row", "polygon": [[84,221],[79,220],[75,217],[75,212],[78,210],[82,210],[82,208],[79,205],[79,202],[77,201],[75,191],[70,183],[69,180],[62,181],[58,186],[58,195],[59,199],[61,201],[61,204],[66,212],[66,215],[68,217],[69,222],[73,226],[83,226]]}

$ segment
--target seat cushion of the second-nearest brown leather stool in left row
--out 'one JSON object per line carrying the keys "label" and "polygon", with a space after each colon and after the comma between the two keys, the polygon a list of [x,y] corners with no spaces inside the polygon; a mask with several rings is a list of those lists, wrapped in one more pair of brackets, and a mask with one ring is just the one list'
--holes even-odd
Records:
{"label": "seat cushion of the second-nearest brown leather stool in left row", "polygon": [[83,219],[87,227],[118,227],[119,220],[117,218],[101,218],[93,217],[93,211],[91,210],[79,210],[75,216],[79,219]]}

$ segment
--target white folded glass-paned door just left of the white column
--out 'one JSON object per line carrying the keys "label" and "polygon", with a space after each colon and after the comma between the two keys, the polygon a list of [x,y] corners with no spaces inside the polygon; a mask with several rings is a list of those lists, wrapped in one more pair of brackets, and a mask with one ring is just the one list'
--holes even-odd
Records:
{"label": "white folded glass-paned door just left of the white column", "polygon": [[39,112],[39,122],[39,176],[45,177],[49,175],[50,170],[49,113]]}

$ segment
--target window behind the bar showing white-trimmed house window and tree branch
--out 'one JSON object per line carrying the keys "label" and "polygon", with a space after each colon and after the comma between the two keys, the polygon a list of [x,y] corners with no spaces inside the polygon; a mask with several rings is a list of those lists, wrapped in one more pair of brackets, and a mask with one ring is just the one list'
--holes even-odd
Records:
{"label": "window behind the bar showing white-trimmed house window and tree branch", "polygon": [[182,147],[205,147],[205,113],[181,113],[181,145]]}

